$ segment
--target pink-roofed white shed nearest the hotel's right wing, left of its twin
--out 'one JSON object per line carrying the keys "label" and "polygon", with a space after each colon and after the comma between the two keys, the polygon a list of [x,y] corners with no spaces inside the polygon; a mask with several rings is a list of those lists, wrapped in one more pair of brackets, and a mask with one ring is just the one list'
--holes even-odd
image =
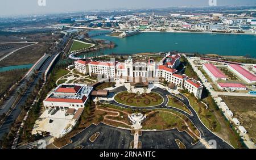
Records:
{"label": "pink-roofed white shed nearest the hotel's right wing, left of its twin", "polygon": [[225,80],[226,81],[226,75],[224,75],[213,64],[204,64],[203,69],[209,75],[210,79],[212,79],[213,82],[216,82],[218,80]]}

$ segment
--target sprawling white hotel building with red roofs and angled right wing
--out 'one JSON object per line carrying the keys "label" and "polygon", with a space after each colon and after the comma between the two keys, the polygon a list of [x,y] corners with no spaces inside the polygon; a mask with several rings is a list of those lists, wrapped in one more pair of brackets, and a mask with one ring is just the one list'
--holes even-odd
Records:
{"label": "sprawling white hotel building with red roofs and angled right wing", "polygon": [[133,61],[129,57],[125,62],[95,62],[95,61],[75,61],[75,69],[83,74],[100,74],[109,78],[125,78],[131,82],[136,77],[147,78],[154,82],[164,79],[177,86],[184,87],[193,93],[197,98],[201,98],[203,85],[200,81],[188,78],[186,75],[177,74],[176,67],[180,64],[180,55],[170,53],[160,61],[155,62],[150,59],[145,61]]}

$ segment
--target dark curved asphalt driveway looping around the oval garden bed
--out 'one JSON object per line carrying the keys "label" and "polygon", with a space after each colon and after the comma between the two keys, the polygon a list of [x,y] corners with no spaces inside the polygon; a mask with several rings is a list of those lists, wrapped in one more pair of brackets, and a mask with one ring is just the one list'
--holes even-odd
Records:
{"label": "dark curved asphalt driveway looping around the oval garden bed", "polygon": [[[124,89],[124,86],[118,87],[117,89],[114,89],[114,91],[110,91],[110,92],[121,92],[121,91],[125,91],[126,89]],[[171,94],[170,92],[168,92],[167,90],[163,90],[160,89],[159,87],[156,89],[152,89],[152,91],[154,92],[158,92],[160,95],[163,96],[164,98],[164,102],[158,106],[154,106],[154,107],[131,107],[131,106],[126,106],[124,104],[115,102],[115,100],[100,100],[101,103],[109,103],[109,104],[113,104],[115,106],[119,106],[119,107],[123,107],[123,108],[130,108],[133,110],[155,110],[155,109],[160,109],[160,108],[166,108],[166,109],[170,109],[170,110],[174,110],[177,112],[182,113],[183,115],[187,116],[192,123],[197,127],[197,129],[199,129],[200,133],[201,133],[201,138],[207,142],[209,141],[216,141],[216,148],[218,149],[232,149],[233,147],[230,146],[227,142],[225,142],[224,140],[222,140],[220,137],[216,136],[216,134],[214,134],[213,132],[211,132],[207,127],[205,127],[205,125],[203,124],[203,122],[200,120],[199,116],[197,115],[196,111],[191,107],[189,100],[187,99],[187,97],[185,97],[183,94],[179,94],[182,98],[180,98],[179,96],[176,96],[174,94]],[[187,106],[187,108],[191,111],[192,115],[189,115],[187,112],[179,110],[175,107],[170,107],[170,106],[166,106],[168,103],[168,98],[167,95],[171,95],[172,97],[176,98],[177,100],[179,100],[180,102],[184,103],[185,106]]]}

